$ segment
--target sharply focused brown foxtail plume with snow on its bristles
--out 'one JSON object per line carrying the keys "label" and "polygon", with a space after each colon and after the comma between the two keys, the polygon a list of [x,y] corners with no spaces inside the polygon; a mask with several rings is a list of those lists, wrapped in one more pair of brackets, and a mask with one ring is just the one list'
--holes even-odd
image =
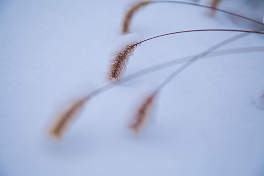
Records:
{"label": "sharply focused brown foxtail plume with snow on its bristles", "polygon": [[138,43],[132,43],[123,47],[117,52],[115,57],[112,59],[110,66],[108,68],[108,80],[120,81],[122,75],[126,69],[128,59],[133,54]]}

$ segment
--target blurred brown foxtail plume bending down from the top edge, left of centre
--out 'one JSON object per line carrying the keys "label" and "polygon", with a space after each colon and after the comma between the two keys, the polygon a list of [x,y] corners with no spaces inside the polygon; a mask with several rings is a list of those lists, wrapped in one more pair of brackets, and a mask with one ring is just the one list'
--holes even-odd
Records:
{"label": "blurred brown foxtail plume bending down from the top edge, left of centre", "polygon": [[122,24],[122,34],[128,34],[129,33],[129,26],[131,23],[131,19],[133,15],[142,7],[145,7],[146,5],[150,4],[151,1],[141,1],[137,4],[133,5],[126,13],[123,24]]}

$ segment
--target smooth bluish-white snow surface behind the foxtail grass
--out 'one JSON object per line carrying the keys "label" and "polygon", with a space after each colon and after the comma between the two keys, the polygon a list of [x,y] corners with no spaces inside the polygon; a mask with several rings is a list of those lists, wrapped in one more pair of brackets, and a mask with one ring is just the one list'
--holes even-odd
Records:
{"label": "smooth bluish-white snow surface behind the foxtail grass", "polygon": [[[262,20],[264,13],[250,10],[261,6],[230,2],[220,8]],[[263,175],[264,111],[251,103],[264,82],[263,52],[198,60],[164,87],[153,123],[138,137],[125,129],[130,110],[179,65],[95,97],[61,142],[47,136],[65,101],[108,83],[110,51],[131,4],[0,1],[0,175]],[[136,14],[131,30],[146,39],[191,29],[259,28],[208,14],[150,5]],[[234,35],[199,32],[142,43],[125,75],[198,54]],[[263,45],[263,35],[252,34],[222,49]]]}

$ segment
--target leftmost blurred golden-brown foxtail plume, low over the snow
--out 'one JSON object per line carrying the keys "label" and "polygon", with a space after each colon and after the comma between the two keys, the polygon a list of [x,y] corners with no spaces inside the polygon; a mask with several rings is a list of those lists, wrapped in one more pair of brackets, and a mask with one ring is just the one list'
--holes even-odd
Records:
{"label": "leftmost blurred golden-brown foxtail plume, low over the snow", "polygon": [[49,130],[49,135],[56,138],[57,140],[60,140],[68,126],[82,111],[83,105],[87,100],[88,98],[77,100],[70,106],[69,109],[59,114],[57,120]]}

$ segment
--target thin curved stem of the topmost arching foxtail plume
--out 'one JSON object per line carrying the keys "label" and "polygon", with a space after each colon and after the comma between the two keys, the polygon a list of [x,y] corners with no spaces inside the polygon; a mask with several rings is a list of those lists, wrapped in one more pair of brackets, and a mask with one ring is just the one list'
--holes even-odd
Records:
{"label": "thin curved stem of the topmost arching foxtail plume", "polygon": [[198,6],[198,7],[202,7],[202,8],[207,8],[207,9],[212,9],[212,10],[216,10],[216,11],[219,11],[219,12],[223,12],[223,13],[226,13],[226,14],[229,14],[229,15],[232,15],[232,16],[236,16],[236,17],[239,17],[239,18],[242,18],[242,19],[251,21],[253,23],[256,23],[256,24],[264,26],[264,24],[262,22],[259,22],[257,20],[242,16],[242,15],[234,14],[232,12],[228,12],[228,11],[225,11],[225,10],[222,10],[222,9],[213,8],[213,7],[210,7],[210,6],[200,5],[200,4],[196,4],[196,3],[188,3],[188,2],[182,2],[182,1],[151,1],[151,3],[177,3],[177,4],[183,4],[183,5]]}

